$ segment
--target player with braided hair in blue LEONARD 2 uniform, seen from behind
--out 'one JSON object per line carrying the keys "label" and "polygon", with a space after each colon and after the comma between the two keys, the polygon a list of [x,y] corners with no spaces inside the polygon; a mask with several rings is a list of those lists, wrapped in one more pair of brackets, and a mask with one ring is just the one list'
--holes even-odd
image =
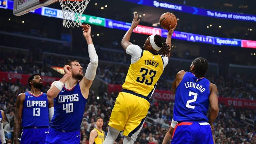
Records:
{"label": "player with braided hair in blue LEONARD 2 uniform, seen from behind", "polygon": [[[173,81],[172,92],[175,93],[173,120],[163,143],[190,144],[215,143],[212,132],[213,122],[218,116],[218,89],[207,78],[208,62],[202,57],[196,58],[189,72],[177,73]],[[210,104],[209,117],[206,116]]]}

